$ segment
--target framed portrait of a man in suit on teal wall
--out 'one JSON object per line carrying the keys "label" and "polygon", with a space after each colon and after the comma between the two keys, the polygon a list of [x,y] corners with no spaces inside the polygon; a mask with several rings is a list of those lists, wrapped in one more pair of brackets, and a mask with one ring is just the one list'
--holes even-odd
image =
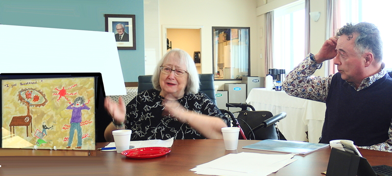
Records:
{"label": "framed portrait of a man in suit on teal wall", "polygon": [[135,15],[105,14],[105,31],[114,32],[117,49],[136,50]]}

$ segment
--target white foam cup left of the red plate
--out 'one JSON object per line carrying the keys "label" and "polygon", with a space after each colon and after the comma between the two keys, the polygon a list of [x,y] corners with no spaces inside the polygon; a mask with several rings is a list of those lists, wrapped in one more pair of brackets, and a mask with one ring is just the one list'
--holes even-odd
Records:
{"label": "white foam cup left of the red plate", "polygon": [[132,130],[115,130],[112,132],[117,153],[129,149]]}

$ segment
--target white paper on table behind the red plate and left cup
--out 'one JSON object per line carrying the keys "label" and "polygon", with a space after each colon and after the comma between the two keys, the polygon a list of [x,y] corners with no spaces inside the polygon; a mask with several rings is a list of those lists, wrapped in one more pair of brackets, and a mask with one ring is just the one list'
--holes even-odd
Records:
{"label": "white paper on table behind the red plate and left cup", "polygon": [[[174,138],[170,138],[168,140],[160,140],[160,139],[153,139],[153,140],[142,140],[142,141],[130,141],[130,146],[135,146],[132,149],[142,148],[142,147],[172,147],[174,142]],[[114,142],[109,143],[106,147],[116,147]],[[114,150],[102,150],[102,151],[116,151]]]}

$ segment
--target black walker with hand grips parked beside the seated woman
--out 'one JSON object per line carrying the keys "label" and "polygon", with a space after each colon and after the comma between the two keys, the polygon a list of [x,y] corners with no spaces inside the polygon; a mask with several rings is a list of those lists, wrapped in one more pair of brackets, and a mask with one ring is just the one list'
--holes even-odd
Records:
{"label": "black walker with hand grips parked beside the seated woman", "polygon": [[[276,122],[286,117],[286,112],[273,116],[270,111],[255,110],[253,106],[246,103],[226,103],[226,107],[241,108],[237,118],[234,117],[232,112],[221,110],[222,113],[230,117],[233,127],[239,126],[241,128],[240,139],[286,140],[276,125]],[[247,110],[247,108],[251,110]]]}

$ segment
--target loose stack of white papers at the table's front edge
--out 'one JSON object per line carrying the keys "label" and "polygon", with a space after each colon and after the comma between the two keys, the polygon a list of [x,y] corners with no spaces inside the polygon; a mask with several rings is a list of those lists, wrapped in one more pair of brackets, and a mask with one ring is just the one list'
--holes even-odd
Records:
{"label": "loose stack of white papers at the table's front edge", "polygon": [[215,176],[268,176],[294,162],[295,154],[227,154],[191,169],[196,174]]}

